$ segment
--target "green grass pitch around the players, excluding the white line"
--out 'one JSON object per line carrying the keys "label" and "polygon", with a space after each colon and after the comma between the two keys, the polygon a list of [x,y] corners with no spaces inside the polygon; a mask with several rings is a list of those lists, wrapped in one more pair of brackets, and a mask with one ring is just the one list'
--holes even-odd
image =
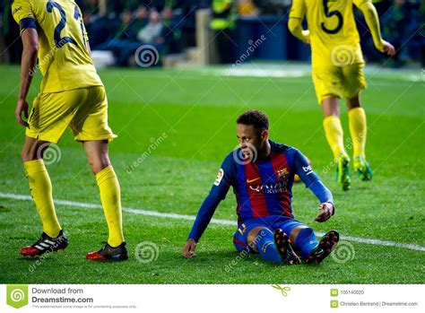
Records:
{"label": "green grass pitch around the players, excluding the white line", "polygon": [[[110,155],[123,206],[195,215],[224,156],[238,144],[236,117],[256,108],[270,117],[271,139],[308,155],[334,193],[336,214],[317,223],[317,199],[303,185],[295,186],[293,210],[299,221],[322,232],[336,229],[343,236],[425,246],[425,94],[420,70],[367,74],[369,88],[362,101],[369,123],[367,155],[375,177],[369,183],[353,177],[351,191],[343,193],[334,181],[309,75],[227,77],[220,75],[222,69],[99,71],[108,91],[109,124],[119,135],[110,145]],[[0,76],[0,193],[29,196],[20,160],[24,129],[13,116],[19,67],[1,66]],[[39,89],[39,75],[32,86],[30,101]],[[348,143],[346,109],[342,113]],[[162,142],[149,151],[161,136]],[[100,204],[81,144],[67,131],[59,147],[60,161],[48,165],[54,197]],[[140,165],[128,173],[142,155]],[[350,241],[354,254],[345,263],[329,257],[317,266],[279,266],[256,255],[239,257],[231,241],[235,227],[220,224],[210,225],[197,257],[186,260],[180,249],[191,221],[128,212],[124,225],[129,261],[89,262],[85,254],[107,239],[103,213],[100,208],[69,204],[57,204],[56,211],[70,246],[37,262],[18,253],[41,232],[34,205],[10,197],[0,197],[0,204],[0,283],[425,283],[423,250]],[[214,218],[236,221],[231,191]],[[134,257],[136,246],[145,241],[159,251],[147,264]]]}

